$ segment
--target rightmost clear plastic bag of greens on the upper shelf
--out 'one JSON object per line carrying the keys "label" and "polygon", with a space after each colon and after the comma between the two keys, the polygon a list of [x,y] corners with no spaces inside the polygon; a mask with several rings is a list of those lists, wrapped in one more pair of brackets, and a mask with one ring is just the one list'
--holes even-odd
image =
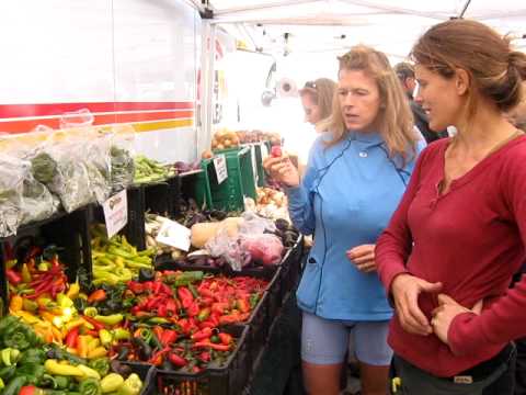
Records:
{"label": "rightmost clear plastic bag of greens on the upper shelf", "polygon": [[116,126],[110,136],[110,142],[111,185],[114,192],[118,192],[134,182],[135,131],[132,126]]}

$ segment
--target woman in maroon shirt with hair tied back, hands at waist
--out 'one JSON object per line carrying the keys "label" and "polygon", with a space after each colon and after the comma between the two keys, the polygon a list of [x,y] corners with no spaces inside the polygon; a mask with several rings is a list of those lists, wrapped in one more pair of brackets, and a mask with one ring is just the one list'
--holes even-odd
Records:
{"label": "woman in maroon shirt with hair tied back, hands at waist", "polygon": [[521,101],[526,55],[454,20],[412,57],[431,128],[458,134],[421,154],[376,247],[396,306],[397,394],[506,395],[510,341],[526,335],[526,281],[507,291],[525,258],[526,137],[503,112]]}

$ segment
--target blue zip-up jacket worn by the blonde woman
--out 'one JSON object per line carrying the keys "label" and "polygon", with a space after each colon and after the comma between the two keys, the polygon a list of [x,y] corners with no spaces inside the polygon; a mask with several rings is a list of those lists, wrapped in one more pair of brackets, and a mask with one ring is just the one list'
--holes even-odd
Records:
{"label": "blue zip-up jacket worn by the blonde woman", "polygon": [[[328,147],[313,144],[298,188],[287,190],[294,225],[316,233],[297,291],[302,311],[328,319],[387,320],[392,309],[376,272],[363,273],[345,252],[376,240],[398,206],[414,167],[389,159],[379,133],[350,133]],[[425,142],[419,143],[420,153]]]}

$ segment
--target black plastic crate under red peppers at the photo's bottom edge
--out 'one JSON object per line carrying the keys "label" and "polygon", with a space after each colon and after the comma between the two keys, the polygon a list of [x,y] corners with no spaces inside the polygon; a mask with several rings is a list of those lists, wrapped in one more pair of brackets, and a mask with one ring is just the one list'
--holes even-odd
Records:
{"label": "black plastic crate under red peppers at the photo's bottom edge", "polygon": [[247,342],[248,327],[230,327],[227,329],[237,340],[236,349],[222,368],[209,368],[203,372],[191,374],[172,371],[157,371],[158,392],[162,385],[173,385],[167,395],[238,395],[247,385],[252,360]]}

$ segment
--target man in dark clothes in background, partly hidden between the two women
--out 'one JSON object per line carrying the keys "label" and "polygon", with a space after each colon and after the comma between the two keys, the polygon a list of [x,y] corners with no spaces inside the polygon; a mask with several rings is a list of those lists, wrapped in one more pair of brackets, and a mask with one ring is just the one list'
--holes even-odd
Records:
{"label": "man in dark clothes in background, partly hidden between the two women", "polygon": [[411,105],[411,111],[413,112],[414,117],[414,125],[419,128],[420,133],[424,136],[427,144],[442,138],[447,137],[447,132],[434,132],[430,129],[430,125],[427,123],[427,116],[425,115],[424,110],[422,106],[414,101],[413,92],[416,88],[416,80],[414,78],[414,69],[408,63],[399,63],[395,66],[395,72],[397,74],[402,87],[409,98],[409,102]]}

